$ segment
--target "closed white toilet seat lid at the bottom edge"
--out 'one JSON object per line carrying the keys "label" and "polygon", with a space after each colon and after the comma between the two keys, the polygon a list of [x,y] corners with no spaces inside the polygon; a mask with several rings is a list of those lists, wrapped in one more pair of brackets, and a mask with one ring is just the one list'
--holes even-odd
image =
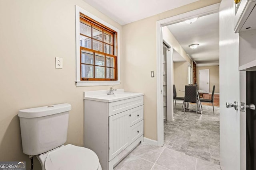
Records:
{"label": "closed white toilet seat lid at the bottom edge", "polygon": [[99,166],[95,152],[71,144],[48,152],[44,164],[46,170],[98,170]]}

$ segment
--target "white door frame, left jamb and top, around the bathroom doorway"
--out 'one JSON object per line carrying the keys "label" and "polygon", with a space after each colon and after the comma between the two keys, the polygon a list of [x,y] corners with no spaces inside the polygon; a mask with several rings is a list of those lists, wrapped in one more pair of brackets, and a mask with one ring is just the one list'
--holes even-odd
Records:
{"label": "white door frame, left jamb and top, around the bathroom doorway", "polygon": [[156,21],[156,93],[157,93],[157,145],[164,145],[164,102],[163,102],[163,32],[162,27],[219,12],[220,3],[206,6],[197,10],[186,12],[177,16],[172,16],[163,20]]}

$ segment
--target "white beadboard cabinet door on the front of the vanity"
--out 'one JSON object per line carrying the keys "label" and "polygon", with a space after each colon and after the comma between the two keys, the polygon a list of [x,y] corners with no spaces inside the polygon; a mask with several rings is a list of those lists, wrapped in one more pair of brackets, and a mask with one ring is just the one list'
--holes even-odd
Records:
{"label": "white beadboard cabinet door on the front of the vanity", "polygon": [[129,145],[130,110],[110,116],[109,119],[109,152],[112,160]]}

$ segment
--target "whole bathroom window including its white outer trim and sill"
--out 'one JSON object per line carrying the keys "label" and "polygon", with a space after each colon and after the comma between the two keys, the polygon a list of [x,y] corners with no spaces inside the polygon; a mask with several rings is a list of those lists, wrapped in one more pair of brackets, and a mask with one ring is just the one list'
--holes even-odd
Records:
{"label": "whole bathroom window including its white outer trim and sill", "polygon": [[76,86],[120,84],[118,33],[76,6]]}

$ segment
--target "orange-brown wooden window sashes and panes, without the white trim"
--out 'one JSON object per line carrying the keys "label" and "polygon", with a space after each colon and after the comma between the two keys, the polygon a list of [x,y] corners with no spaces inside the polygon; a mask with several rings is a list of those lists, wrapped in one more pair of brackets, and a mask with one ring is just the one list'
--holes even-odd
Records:
{"label": "orange-brown wooden window sashes and panes, without the white trim", "polygon": [[80,13],[81,80],[117,80],[117,33]]}

